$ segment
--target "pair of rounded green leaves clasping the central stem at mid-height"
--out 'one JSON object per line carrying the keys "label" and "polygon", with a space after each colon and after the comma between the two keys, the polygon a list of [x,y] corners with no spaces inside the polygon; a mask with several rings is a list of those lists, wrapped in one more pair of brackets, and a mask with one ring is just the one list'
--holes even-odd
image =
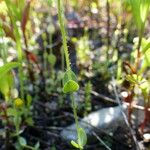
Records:
{"label": "pair of rounded green leaves clasping the central stem at mid-height", "polygon": [[68,70],[64,74],[63,78],[63,92],[64,93],[72,93],[79,89],[79,85],[77,83],[76,75],[72,70]]}

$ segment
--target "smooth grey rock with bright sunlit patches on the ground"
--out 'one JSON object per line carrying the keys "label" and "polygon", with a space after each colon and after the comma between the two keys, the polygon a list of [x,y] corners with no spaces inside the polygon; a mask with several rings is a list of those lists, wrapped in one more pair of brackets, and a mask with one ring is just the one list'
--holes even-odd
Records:
{"label": "smooth grey rock with bright sunlit patches on the ground", "polygon": [[[127,107],[123,106],[123,109],[125,111]],[[79,126],[85,129],[88,137],[92,137],[92,131],[94,131],[95,127],[105,130],[108,133],[115,131],[118,126],[126,127],[119,106],[103,108],[93,112],[84,117],[79,122]],[[76,140],[77,133],[75,124],[66,127],[60,134],[66,141]]]}

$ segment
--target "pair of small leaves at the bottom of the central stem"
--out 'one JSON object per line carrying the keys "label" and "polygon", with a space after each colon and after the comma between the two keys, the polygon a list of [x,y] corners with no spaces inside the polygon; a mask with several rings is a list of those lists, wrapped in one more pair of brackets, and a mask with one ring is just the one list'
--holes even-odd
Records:
{"label": "pair of small leaves at the bottom of the central stem", "polygon": [[83,149],[83,147],[86,145],[87,143],[87,135],[84,129],[79,128],[78,130],[78,143],[76,143],[75,141],[71,141],[71,144],[79,149]]}

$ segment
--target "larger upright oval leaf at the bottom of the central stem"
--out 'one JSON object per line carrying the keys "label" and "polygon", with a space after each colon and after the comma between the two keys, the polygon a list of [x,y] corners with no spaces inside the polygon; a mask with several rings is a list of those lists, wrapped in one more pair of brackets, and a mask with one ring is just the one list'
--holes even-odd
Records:
{"label": "larger upright oval leaf at the bottom of the central stem", "polygon": [[78,144],[80,147],[84,147],[87,143],[87,135],[83,128],[79,128],[79,137],[78,137]]}

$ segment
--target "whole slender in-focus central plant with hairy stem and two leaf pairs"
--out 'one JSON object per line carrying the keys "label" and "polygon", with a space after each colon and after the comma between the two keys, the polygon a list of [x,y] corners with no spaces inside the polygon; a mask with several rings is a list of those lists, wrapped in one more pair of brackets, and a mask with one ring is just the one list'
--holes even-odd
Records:
{"label": "whole slender in-focus central plant with hairy stem and two leaf pairs", "polygon": [[66,68],[67,68],[63,78],[63,92],[65,94],[70,94],[71,96],[73,113],[74,113],[74,118],[76,123],[77,138],[78,138],[76,142],[71,141],[71,144],[78,149],[83,149],[83,147],[87,142],[87,136],[84,129],[80,128],[78,123],[78,117],[76,111],[77,105],[73,93],[78,91],[79,85],[77,83],[77,77],[74,74],[74,72],[71,70],[71,66],[70,66],[69,52],[67,47],[67,37],[66,37],[65,24],[64,24],[64,13],[63,13],[61,0],[57,1],[57,8],[58,8],[58,18],[59,18],[59,24],[62,33],[63,50],[65,54]]}

